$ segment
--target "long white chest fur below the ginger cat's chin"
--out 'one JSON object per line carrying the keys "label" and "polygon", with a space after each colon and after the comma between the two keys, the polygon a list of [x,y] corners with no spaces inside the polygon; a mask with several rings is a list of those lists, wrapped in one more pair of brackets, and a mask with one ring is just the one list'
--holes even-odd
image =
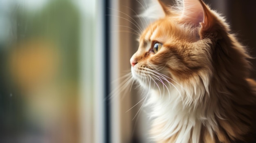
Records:
{"label": "long white chest fur below the ginger cat's chin", "polygon": [[201,99],[207,92],[203,83],[198,84],[190,85],[191,88],[170,87],[168,93],[161,95],[157,90],[151,92],[148,103],[152,107],[150,115],[154,118],[153,140],[173,139],[174,143],[198,143],[202,125],[212,135],[216,127],[214,113],[207,111],[206,114],[207,109],[204,109]]}

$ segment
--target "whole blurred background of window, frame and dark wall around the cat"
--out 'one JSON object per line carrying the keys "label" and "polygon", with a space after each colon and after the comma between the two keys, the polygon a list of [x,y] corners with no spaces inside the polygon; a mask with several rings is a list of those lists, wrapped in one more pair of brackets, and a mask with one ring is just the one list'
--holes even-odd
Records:
{"label": "whole blurred background of window, frame and dark wall around the cat", "polygon": [[[256,2],[204,1],[256,57]],[[136,84],[116,90],[148,2],[0,0],[0,143],[150,143]]]}

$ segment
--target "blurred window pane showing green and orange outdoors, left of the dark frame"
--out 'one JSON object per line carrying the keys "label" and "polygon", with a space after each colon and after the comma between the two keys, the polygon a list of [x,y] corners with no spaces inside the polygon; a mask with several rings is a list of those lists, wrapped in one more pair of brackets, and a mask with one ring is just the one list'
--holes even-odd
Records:
{"label": "blurred window pane showing green and orange outdoors, left of the dark frame", "polygon": [[[96,19],[93,11],[84,11],[86,2],[0,1],[0,143],[93,141],[90,134],[81,139],[82,122],[94,124],[97,97],[88,94],[94,90]],[[90,37],[83,37],[84,29],[92,30]],[[91,52],[89,64],[81,51]],[[80,99],[90,105],[80,106],[86,104]]]}

